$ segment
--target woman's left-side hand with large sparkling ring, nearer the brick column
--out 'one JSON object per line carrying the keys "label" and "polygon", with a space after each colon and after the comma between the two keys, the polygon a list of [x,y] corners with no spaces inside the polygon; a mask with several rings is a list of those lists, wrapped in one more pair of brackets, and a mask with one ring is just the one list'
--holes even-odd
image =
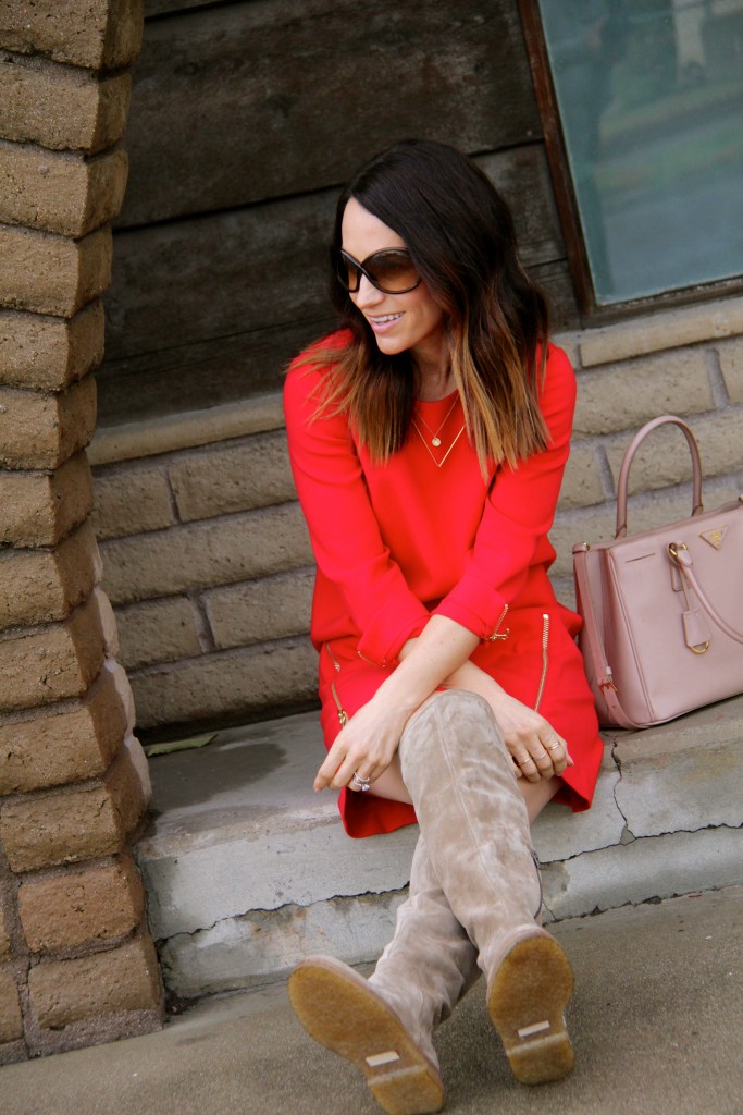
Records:
{"label": "woman's left-side hand with large sparkling ring, nearer the brick column", "polygon": [[353,782],[354,774],[362,782],[375,782],[392,762],[411,711],[392,705],[378,690],[335,737],[313,788],[361,789]]}

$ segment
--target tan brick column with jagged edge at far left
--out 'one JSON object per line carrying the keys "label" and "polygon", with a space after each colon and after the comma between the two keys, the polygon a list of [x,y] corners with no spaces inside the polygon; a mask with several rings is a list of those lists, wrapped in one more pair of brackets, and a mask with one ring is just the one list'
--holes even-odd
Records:
{"label": "tan brick column with jagged edge at far left", "polygon": [[141,27],[141,0],[0,3],[0,1064],[162,1021],[85,452]]}

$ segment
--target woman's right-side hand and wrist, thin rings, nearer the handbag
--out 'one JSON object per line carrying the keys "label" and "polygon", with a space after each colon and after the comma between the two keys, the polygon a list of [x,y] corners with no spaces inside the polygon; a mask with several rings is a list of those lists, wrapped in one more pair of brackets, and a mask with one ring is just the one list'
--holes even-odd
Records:
{"label": "woman's right-side hand and wrist, thin rings, nearer the handbag", "polygon": [[514,759],[517,778],[541,782],[561,775],[574,765],[566,741],[549,721],[509,696],[472,662],[461,666],[447,678],[444,685],[447,688],[467,689],[487,700]]}

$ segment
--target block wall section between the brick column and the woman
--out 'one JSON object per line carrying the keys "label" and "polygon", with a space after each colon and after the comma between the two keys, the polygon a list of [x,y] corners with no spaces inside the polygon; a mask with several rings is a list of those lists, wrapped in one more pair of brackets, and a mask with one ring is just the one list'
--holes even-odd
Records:
{"label": "block wall section between the brick column and the woman", "polygon": [[280,397],[101,430],[91,455],[139,727],[177,735],[309,707],[312,554]]}

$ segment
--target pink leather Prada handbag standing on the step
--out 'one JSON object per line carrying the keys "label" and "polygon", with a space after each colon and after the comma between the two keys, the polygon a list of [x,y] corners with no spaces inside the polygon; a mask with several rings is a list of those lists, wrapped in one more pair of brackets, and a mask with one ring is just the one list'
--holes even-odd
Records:
{"label": "pink leather Prada handbag standing on the step", "polygon": [[[627,534],[629,466],[673,424],[692,454],[692,517]],[[600,724],[647,728],[743,692],[743,495],[703,513],[700,450],[686,423],[635,435],[617,485],[616,536],[573,547],[578,637]]]}

